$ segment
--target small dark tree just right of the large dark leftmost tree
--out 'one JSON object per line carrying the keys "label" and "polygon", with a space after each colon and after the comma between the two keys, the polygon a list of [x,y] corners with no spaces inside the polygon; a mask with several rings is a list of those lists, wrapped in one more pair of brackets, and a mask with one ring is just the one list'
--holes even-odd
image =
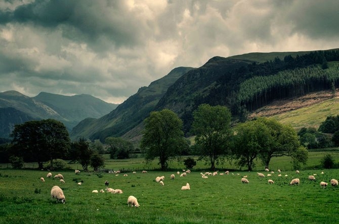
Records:
{"label": "small dark tree just right of the large dark leftmost tree", "polygon": [[72,162],[79,162],[84,171],[88,171],[93,153],[93,149],[90,148],[90,142],[84,138],[80,138],[71,144],[69,157]]}

